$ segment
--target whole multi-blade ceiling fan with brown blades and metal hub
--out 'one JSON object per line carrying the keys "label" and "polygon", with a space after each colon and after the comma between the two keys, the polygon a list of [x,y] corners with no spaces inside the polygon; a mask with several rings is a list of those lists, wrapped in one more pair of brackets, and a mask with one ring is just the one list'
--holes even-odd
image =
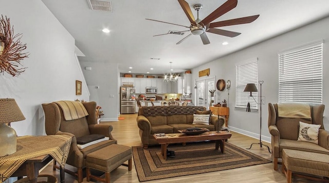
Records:
{"label": "whole multi-blade ceiling fan with brown blades and metal hub", "polygon": [[[220,22],[211,23],[212,21],[214,21],[214,19],[222,16],[223,14],[225,14],[225,13],[229,12],[230,10],[232,10],[233,8],[235,8],[236,5],[237,5],[237,0],[228,0],[222,6],[218,7],[215,11],[210,13],[203,20],[199,19],[199,11],[200,11],[200,9],[202,9],[201,4],[196,4],[196,5],[193,6],[194,9],[197,11],[197,19],[195,19],[193,14],[192,14],[191,8],[190,8],[189,4],[186,1],[178,0],[178,3],[180,4],[181,8],[184,10],[186,16],[189,18],[189,21],[191,23],[191,25],[189,27],[188,26],[178,25],[178,24],[173,24],[173,23],[168,23],[168,22],[157,21],[155,19],[146,18],[150,21],[156,21],[156,22],[161,22],[161,23],[172,24],[172,25],[176,25],[176,26],[182,26],[182,27],[185,27],[185,28],[189,28],[190,30],[179,31],[179,32],[191,31],[191,33],[188,36],[182,38],[178,43],[176,43],[176,45],[183,42],[185,39],[190,37],[192,34],[193,35],[200,35],[204,45],[210,44],[210,41],[208,39],[208,36],[207,36],[206,32],[210,32],[210,33],[218,34],[218,35],[223,35],[223,36],[228,36],[228,37],[238,36],[238,35],[241,34],[240,32],[233,32],[233,31],[228,31],[228,30],[223,30],[223,29],[216,29],[216,27],[232,26],[232,25],[239,25],[239,24],[248,24],[248,23],[251,23],[251,22],[255,21],[255,19],[257,19],[259,17],[259,15],[253,15],[253,16],[246,16],[246,17],[241,17],[241,18],[229,19],[227,21],[220,21]],[[170,34],[170,33],[167,33],[167,34]],[[159,35],[167,35],[167,34],[159,34]],[[159,36],[159,35],[154,35],[154,36]]]}

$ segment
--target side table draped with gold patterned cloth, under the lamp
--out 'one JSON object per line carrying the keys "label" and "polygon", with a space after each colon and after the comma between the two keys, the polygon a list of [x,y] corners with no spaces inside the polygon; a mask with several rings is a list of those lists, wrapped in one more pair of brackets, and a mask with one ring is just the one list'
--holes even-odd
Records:
{"label": "side table draped with gold patterned cloth, under the lamp", "polygon": [[[10,176],[27,175],[29,180],[36,181],[39,167],[36,162],[46,162],[53,158],[64,168],[71,137],[67,135],[22,136],[17,137],[17,151],[13,154],[0,157],[0,183]],[[51,156],[51,157],[50,157]],[[24,171],[24,167],[26,170]],[[23,172],[21,169],[23,168]],[[32,170],[31,170],[32,169]],[[17,171],[17,172],[16,172]],[[61,182],[64,182],[64,173]]]}

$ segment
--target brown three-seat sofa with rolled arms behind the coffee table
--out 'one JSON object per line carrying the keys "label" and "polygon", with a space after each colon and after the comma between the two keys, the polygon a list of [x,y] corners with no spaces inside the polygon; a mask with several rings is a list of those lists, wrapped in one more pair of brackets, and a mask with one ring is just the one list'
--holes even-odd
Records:
{"label": "brown three-seat sofa with rolled arms behind the coffee table", "polygon": [[144,148],[158,144],[154,139],[155,133],[179,133],[178,130],[187,128],[207,128],[211,131],[221,130],[225,118],[212,115],[209,125],[193,125],[193,114],[196,111],[206,111],[200,106],[154,106],[141,107],[138,111],[137,125],[139,136]]}

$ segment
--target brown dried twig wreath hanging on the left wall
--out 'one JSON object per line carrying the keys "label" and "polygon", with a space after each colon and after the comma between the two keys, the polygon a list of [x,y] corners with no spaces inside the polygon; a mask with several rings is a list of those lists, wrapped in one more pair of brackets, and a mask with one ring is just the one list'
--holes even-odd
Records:
{"label": "brown dried twig wreath hanging on the left wall", "polygon": [[28,57],[28,53],[22,51],[26,49],[26,44],[21,42],[22,34],[14,35],[14,26],[10,27],[7,16],[0,18],[0,42],[4,43],[2,53],[0,53],[0,72],[7,72],[12,76],[18,76],[25,71],[21,61]]}

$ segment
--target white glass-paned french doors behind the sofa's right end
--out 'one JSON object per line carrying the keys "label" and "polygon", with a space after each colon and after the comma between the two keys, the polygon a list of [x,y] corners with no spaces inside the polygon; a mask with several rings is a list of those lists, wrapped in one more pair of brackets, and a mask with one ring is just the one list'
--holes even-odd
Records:
{"label": "white glass-paned french doors behind the sofa's right end", "polygon": [[209,109],[211,96],[209,90],[215,90],[215,78],[196,80],[196,106]]}

